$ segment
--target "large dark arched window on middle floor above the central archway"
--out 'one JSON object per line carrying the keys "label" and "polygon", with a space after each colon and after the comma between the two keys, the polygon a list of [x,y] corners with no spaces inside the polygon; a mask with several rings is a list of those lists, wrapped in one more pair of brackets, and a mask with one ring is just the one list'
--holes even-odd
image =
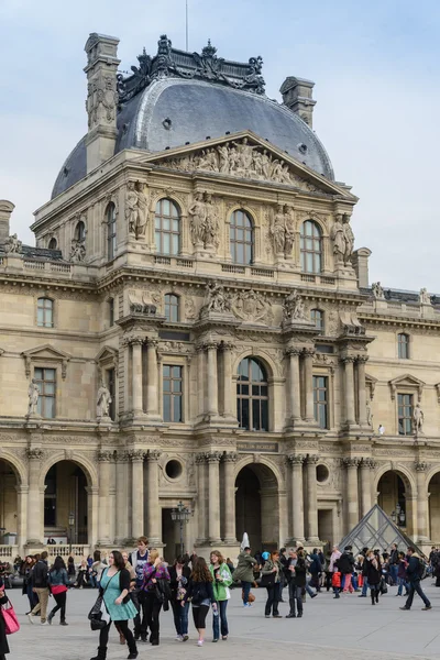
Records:
{"label": "large dark arched window on middle floor above the central archway", "polygon": [[245,358],[239,365],[237,417],[242,429],[268,431],[267,375],[255,358]]}

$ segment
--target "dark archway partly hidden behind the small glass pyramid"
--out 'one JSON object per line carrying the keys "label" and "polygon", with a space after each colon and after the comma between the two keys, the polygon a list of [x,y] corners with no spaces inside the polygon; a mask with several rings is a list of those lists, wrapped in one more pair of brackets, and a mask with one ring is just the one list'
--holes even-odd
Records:
{"label": "dark archway partly hidden behind the small glass pyramid", "polygon": [[381,476],[377,504],[399,529],[409,536],[414,534],[411,487],[403,473],[388,470]]}

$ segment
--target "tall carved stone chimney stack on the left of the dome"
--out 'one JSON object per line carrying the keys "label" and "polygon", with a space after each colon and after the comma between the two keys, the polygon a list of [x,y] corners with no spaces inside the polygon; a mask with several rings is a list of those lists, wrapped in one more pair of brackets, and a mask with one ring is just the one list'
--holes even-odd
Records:
{"label": "tall carved stone chimney stack on the left of the dome", "polygon": [[114,155],[119,38],[94,32],[87,40],[87,173]]}

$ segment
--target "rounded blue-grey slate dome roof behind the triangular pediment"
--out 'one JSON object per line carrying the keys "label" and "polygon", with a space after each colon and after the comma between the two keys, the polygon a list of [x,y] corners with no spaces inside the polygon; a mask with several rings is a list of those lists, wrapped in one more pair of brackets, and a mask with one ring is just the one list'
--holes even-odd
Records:
{"label": "rounded blue-grey slate dome roof behind the triangular pediment", "polygon": [[[314,131],[285,106],[264,95],[204,80],[162,78],[124,103],[118,114],[114,153],[161,152],[250,130],[318,174],[334,180],[330,158]],[[85,138],[62,167],[52,197],[86,176]]]}

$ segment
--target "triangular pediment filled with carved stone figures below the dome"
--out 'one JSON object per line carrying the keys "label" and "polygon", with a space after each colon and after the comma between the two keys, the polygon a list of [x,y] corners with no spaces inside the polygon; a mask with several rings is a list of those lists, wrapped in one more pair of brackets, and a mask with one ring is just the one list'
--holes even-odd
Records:
{"label": "triangular pediment filled with carved stone figures below the dome", "polygon": [[271,143],[246,131],[167,151],[145,162],[187,173],[209,173],[241,179],[270,182],[305,193],[356,198],[337,184],[309,169]]}

